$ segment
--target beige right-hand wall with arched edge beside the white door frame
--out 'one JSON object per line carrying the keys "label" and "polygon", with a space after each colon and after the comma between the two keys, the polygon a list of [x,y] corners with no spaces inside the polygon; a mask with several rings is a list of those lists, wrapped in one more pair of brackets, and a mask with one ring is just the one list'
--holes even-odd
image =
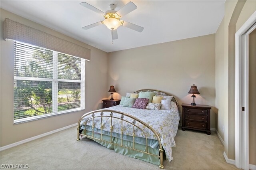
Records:
{"label": "beige right-hand wall with arched edge beside the white door frame", "polygon": [[[223,74],[216,73],[216,110],[218,110],[218,131],[220,119],[223,118],[220,111],[224,104],[224,151],[229,159],[235,159],[235,33],[248,20],[256,10],[255,1],[226,0],[224,28],[221,24],[216,33],[216,44],[224,45],[216,49],[216,68],[222,69]],[[223,32],[224,30],[224,32]],[[218,36],[218,38],[217,38]],[[218,42],[217,42],[218,39]],[[221,57],[224,50],[223,58]],[[218,51],[218,52],[217,52]],[[224,62],[224,63],[222,63]],[[218,72],[218,71],[217,71]],[[218,84],[218,87],[217,87]],[[222,88],[224,88],[224,90]],[[221,95],[222,94],[222,95]],[[221,95],[221,96],[220,96]]]}

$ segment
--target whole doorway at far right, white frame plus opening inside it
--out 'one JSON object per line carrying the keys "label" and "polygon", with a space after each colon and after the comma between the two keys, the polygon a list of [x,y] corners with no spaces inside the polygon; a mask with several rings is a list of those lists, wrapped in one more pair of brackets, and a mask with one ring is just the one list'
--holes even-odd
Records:
{"label": "whole doorway at far right, white frame plus opening inside it", "polygon": [[[236,166],[256,166],[256,12],[236,32],[235,148]],[[254,113],[253,113],[254,111]],[[250,149],[249,149],[250,148]],[[250,159],[251,158],[251,159]]]}

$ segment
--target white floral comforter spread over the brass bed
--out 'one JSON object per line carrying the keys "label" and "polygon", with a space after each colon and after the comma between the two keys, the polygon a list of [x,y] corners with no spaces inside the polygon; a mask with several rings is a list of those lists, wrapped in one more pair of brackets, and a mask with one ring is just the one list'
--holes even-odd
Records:
{"label": "white floral comforter spread over the brass bed", "polygon": [[[166,157],[169,161],[172,160],[171,158],[171,147],[175,146],[174,137],[176,136],[177,130],[178,130],[178,123],[180,121],[180,116],[178,112],[178,108],[174,102],[171,103],[171,109],[170,110],[147,110],[147,109],[133,109],[130,107],[122,107],[120,105],[106,108],[111,109],[115,111],[120,111],[127,113],[129,115],[132,115],[144,123],[148,124],[150,127],[152,127],[159,135],[161,139],[162,146],[166,152]],[[110,115],[110,113],[106,112],[104,115]],[[100,116],[100,113],[95,113],[95,117]],[[113,115],[113,117],[119,117],[119,114]],[[84,124],[84,121],[91,118],[91,115],[88,117],[85,117],[80,125]],[[132,122],[132,119],[124,117],[124,119]],[[100,129],[100,118],[94,118],[94,127]],[[87,125],[92,126],[92,119],[90,119],[87,122]],[[145,126],[141,125],[140,123],[136,122],[136,125],[141,127],[148,138],[150,139],[156,139],[156,136],[154,133],[146,128]],[[112,119],[112,126],[113,126],[113,132],[121,133],[121,121],[118,119]],[[103,117],[103,130],[110,132],[110,118]],[[133,126],[129,123],[126,123],[123,121],[123,134],[132,136],[133,132]],[[135,136],[139,137],[145,137],[143,132],[141,130],[138,130],[135,128]]]}

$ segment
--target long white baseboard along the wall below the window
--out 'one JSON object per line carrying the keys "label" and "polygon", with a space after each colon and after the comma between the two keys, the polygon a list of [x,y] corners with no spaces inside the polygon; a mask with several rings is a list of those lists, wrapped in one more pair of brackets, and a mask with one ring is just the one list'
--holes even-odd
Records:
{"label": "long white baseboard along the wall below the window", "polygon": [[18,146],[18,145],[20,145],[20,144],[24,144],[24,143],[26,143],[26,142],[30,142],[30,141],[35,140],[35,139],[38,139],[38,138],[42,138],[42,137],[47,136],[47,135],[49,135],[49,134],[53,134],[53,133],[56,133],[56,132],[59,132],[59,131],[61,131],[61,130],[65,130],[65,129],[67,129],[67,128],[71,128],[71,127],[74,127],[74,126],[77,126],[77,123],[75,123],[75,124],[73,124],[73,125],[69,125],[69,126],[63,127],[63,128],[58,128],[58,129],[56,129],[56,130],[52,130],[52,131],[46,132],[46,133],[44,133],[44,134],[39,134],[39,135],[37,135],[37,136],[31,137],[31,138],[27,138],[27,139],[21,140],[21,141],[19,141],[19,142],[15,142],[15,143],[12,143],[12,144],[8,144],[8,145],[6,145],[6,146],[2,146],[2,147],[0,148],[0,151],[6,150],[6,149],[9,149],[9,148],[12,148],[12,147],[14,147],[14,146]]}

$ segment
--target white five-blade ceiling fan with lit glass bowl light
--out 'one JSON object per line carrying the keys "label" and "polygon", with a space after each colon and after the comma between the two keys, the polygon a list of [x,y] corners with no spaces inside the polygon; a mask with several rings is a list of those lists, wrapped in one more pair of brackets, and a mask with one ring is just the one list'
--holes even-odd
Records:
{"label": "white five-blade ceiling fan with lit glass bowl light", "polygon": [[133,10],[137,9],[137,6],[132,3],[132,2],[128,2],[125,6],[123,6],[120,10],[115,11],[116,5],[115,4],[110,4],[110,10],[107,10],[106,12],[103,12],[101,10],[99,10],[98,8],[95,8],[94,6],[86,3],[86,2],[81,2],[80,5],[104,16],[105,20],[104,21],[100,21],[100,22],[96,22],[94,24],[90,24],[88,26],[84,26],[82,27],[84,30],[88,30],[90,28],[93,28],[95,26],[99,26],[101,24],[104,24],[108,29],[111,30],[111,35],[112,35],[112,43],[113,40],[118,39],[118,35],[117,35],[117,28],[119,26],[125,26],[127,28],[130,28],[132,30],[138,31],[138,32],[142,32],[143,31],[143,27],[141,26],[137,26],[135,24],[132,24],[130,22],[126,22],[123,20],[120,20],[120,18],[122,18],[123,16],[125,16],[126,14],[129,14],[130,12],[132,12]]}

